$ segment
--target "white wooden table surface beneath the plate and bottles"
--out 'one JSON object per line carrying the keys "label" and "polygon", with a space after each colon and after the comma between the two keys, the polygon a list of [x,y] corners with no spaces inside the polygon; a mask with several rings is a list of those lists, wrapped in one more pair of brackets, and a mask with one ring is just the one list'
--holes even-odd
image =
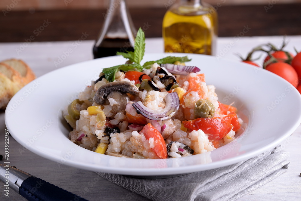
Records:
{"label": "white wooden table surface beneath the plate and bottles", "polygon": [[[286,50],[293,53],[293,47],[301,50],[301,36],[288,36],[287,40],[289,44]],[[240,53],[246,56],[247,52],[253,47],[266,42],[281,45],[282,37],[243,37],[238,40],[237,38],[219,38],[217,55],[226,59],[239,60],[234,53]],[[57,68],[92,59],[93,44],[94,41],[32,42],[27,44],[26,47],[21,48],[22,45],[25,46],[26,44],[0,43],[0,60],[8,58],[22,59],[39,77]],[[232,44],[232,46],[230,44]],[[160,38],[147,39],[146,45],[146,53],[163,52],[163,41]],[[70,50],[70,48],[72,52],[68,55],[66,52],[68,49]],[[265,56],[262,56],[260,62],[264,57]],[[4,111],[0,111],[0,153],[2,155],[4,154],[5,128]],[[282,143],[284,150],[290,152],[289,159],[291,163],[288,171],[238,200],[300,200],[300,143],[301,126]],[[16,166],[25,172],[29,172],[36,177],[44,179],[90,201],[109,199],[130,201],[148,200],[98,177],[94,172],[65,165],[58,166],[56,162],[44,159],[29,150],[23,149],[12,137],[10,137],[10,161],[12,166]],[[1,163],[3,163],[3,161]],[[9,197],[5,196],[4,193],[4,186],[0,185],[0,200],[25,200],[12,190],[9,191]]]}

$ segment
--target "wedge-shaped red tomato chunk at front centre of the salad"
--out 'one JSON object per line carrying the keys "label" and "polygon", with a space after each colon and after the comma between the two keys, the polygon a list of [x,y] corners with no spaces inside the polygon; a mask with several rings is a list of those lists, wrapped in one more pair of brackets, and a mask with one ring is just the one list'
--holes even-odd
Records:
{"label": "wedge-shaped red tomato chunk at front centre of the salad", "polygon": [[167,149],[163,136],[151,123],[145,125],[139,133],[143,133],[147,140],[154,138],[155,147],[152,149],[160,158],[167,158]]}

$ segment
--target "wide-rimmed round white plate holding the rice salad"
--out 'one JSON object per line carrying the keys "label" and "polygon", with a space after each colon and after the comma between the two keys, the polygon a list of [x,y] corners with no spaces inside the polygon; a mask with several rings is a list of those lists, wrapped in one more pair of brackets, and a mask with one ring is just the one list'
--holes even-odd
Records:
{"label": "wide-rimmed round white plate holding the rice salad", "polygon": [[[170,54],[147,54],[141,63]],[[123,175],[175,175],[219,168],[249,159],[281,143],[301,122],[301,96],[287,81],[241,62],[198,54],[189,65],[200,67],[206,83],[216,86],[219,101],[235,101],[247,123],[240,137],[212,152],[178,159],[128,159],[102,155],[73,144],[62,110],[79,91],[98,79],[102,68],[124,63],[121,56],[90,60],[52,71],[22,88],[9,102],[5,123],[24,147],[73,167]],[[65,125],[64,125],[65,124]],[[241,132],[240,132],[241,133]]]}

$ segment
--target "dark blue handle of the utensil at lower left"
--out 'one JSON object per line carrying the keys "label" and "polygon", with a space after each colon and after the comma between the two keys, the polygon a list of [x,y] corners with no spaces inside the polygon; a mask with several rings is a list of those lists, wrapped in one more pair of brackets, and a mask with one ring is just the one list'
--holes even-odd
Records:
{"label": "dark blue handle of the utensil at lower left", "polygon": [[29,201],[88,201],[36,177],[24,180],[19,193]]}

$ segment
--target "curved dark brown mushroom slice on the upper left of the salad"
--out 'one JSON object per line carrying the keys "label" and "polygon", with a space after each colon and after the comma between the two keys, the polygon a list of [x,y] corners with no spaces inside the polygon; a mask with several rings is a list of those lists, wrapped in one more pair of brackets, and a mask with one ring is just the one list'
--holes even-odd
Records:
{"label": "curved dark brown mushroom slice on the upper left of the salad", "polygon": [[126,82],[126,81],[110,82],[98,88],[93,98],[94,102],[98,105],[104,104],[105,97],[107,97],[107,95],[109,95],[112,91],[120,91],[122,93],[132,94],[132,95],[139,94],[137,87],[132,82]]}

